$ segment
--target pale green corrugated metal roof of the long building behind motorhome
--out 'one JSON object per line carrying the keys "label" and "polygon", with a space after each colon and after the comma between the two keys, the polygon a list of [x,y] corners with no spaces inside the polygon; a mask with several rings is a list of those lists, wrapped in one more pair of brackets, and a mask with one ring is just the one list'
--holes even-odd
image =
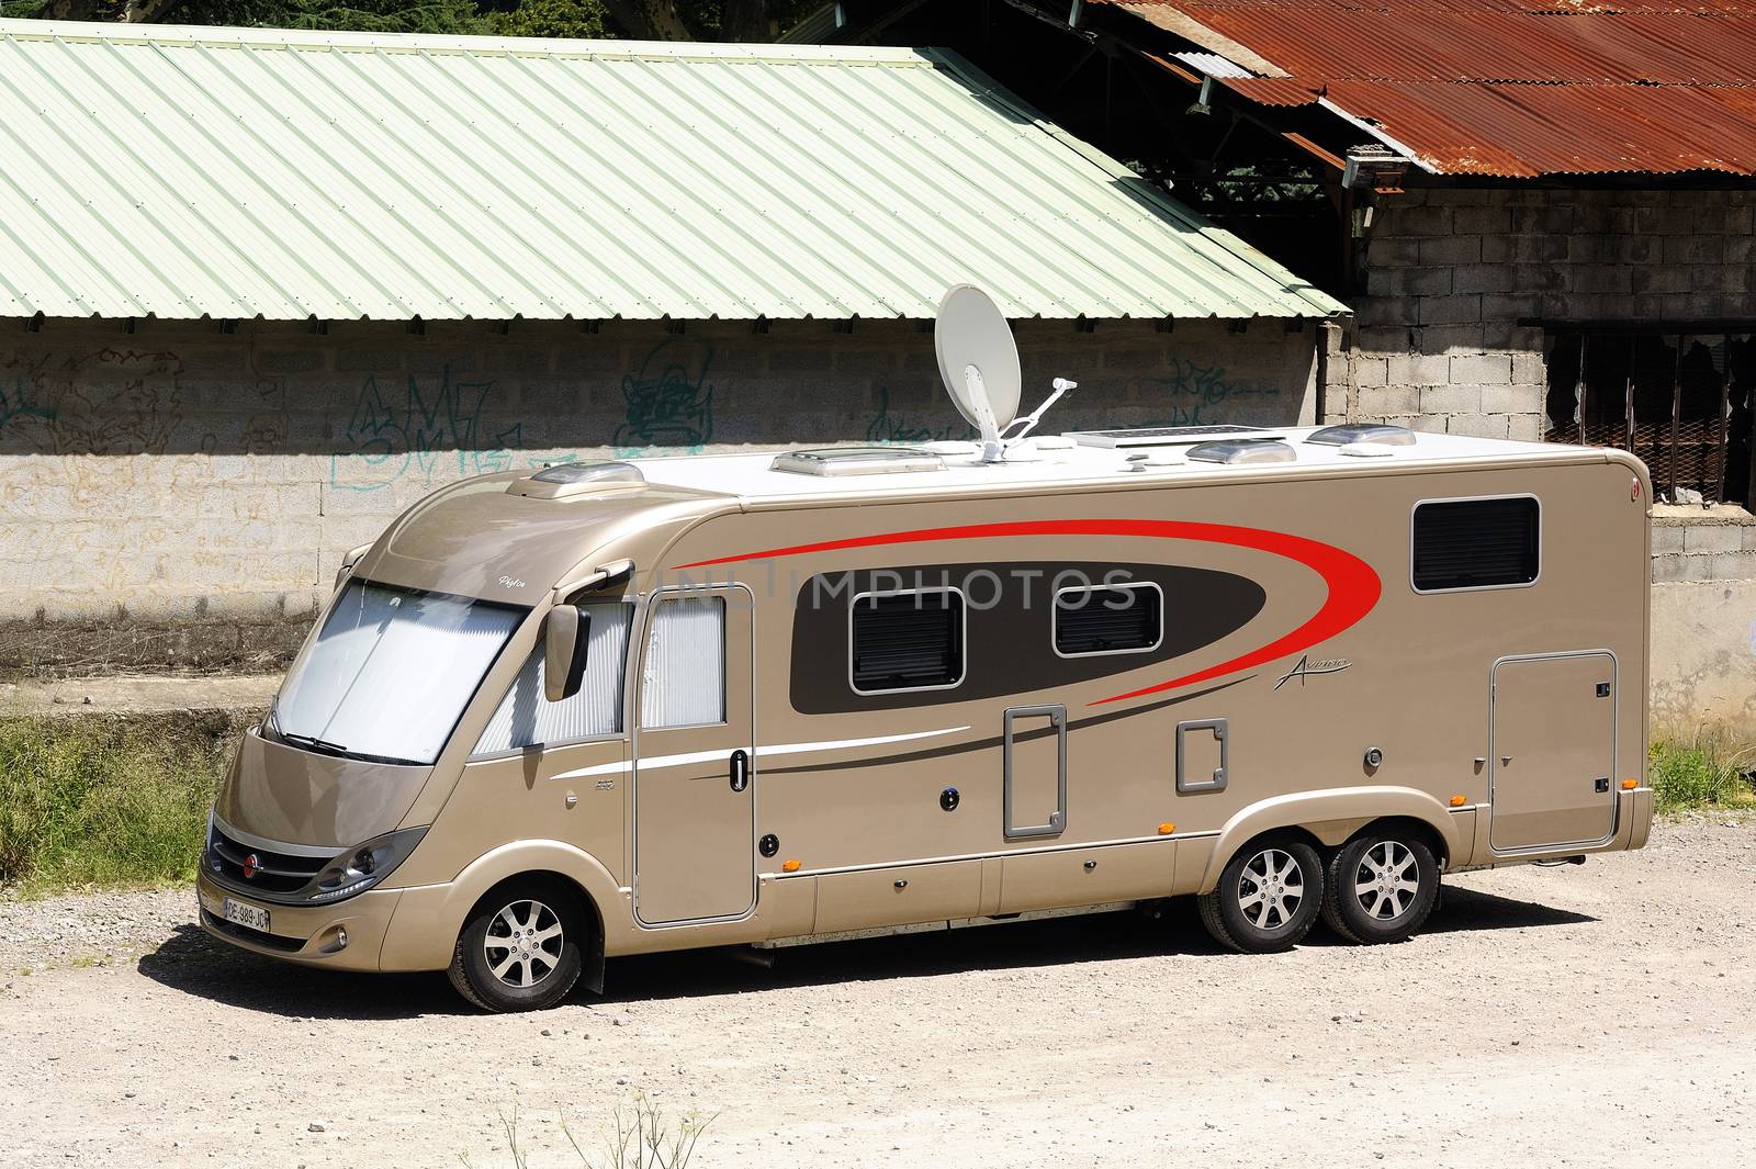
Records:
{"label": "pale green corrugated metal roof of the long building behind motorhome", "polygon": [[1322,316],[957,58],[0,21],[0,316]]}

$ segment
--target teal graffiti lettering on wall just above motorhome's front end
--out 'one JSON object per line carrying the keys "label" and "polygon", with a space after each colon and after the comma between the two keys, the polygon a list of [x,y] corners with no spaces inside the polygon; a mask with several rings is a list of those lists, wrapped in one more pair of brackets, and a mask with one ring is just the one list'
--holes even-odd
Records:
{"label": "teal graffiti lettering on wall just above motorhome's front end", "polygon": [[513,467],[523,441],[523,423],[492,428],[483,411],[493,381],[453,381],[451,367],[437,384],[414,374],[400,384],[369,374],[330,456],[330,486],[342,491],[381,491],[409,476],[432,484]]}

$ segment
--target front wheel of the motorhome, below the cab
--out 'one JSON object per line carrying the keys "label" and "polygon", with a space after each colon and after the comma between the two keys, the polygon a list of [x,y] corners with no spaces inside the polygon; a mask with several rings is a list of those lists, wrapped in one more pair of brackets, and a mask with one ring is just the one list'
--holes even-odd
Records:
{"label": "front wheel of the motorhome, below the cab", "polygon": [[543,1011],[579,981],[590,916],[550,881],[507,881],[483,897],[457,936],[457,992],[483,1011]]}

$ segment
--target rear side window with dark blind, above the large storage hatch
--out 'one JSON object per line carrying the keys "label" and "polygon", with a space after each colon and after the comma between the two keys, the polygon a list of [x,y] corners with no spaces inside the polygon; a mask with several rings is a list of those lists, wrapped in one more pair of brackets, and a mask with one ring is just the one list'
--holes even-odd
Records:
{"label": "rear side window with dark blind, above the large storage hatch", "polygon": [[1410,579],[1417,593],[1531,584],[1542,569],[1542,509],[1529,495],[1415,504]]}

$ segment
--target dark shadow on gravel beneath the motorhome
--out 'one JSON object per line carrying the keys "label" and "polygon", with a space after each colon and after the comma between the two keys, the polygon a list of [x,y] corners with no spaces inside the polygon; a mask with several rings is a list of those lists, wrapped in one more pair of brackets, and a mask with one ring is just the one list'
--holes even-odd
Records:
{"label": "dark shadow on gravel beneath the motorhome", "polygon": [[[1589,922],[1596,918],[1494,893],[1447,888],[1443,904],[1422,932],[1452,934]],[[1319,925],[1305,944],[1342,943]],[[1231,957],[1201,929],[1191,897],[1166,902],[1157,916],[1141,911],[1103,913],[773,951],[723,948],[616,958],[609,964],[608,993],[602,999],[576,992],[571,1000],[592,1006],[690,999],[745,990],[1101,964],[1173,953],[1212,957],[1215,962]],[[752,957],[757,960],[748,960]],[[769,958],[773,965],[762,965]],[[443,974],[316,971],[232,950],[193,925],[179,927],[165,944],[144,955],[139,969],[174,990],[270,1015],[399,1020],[474,1013]]]}

